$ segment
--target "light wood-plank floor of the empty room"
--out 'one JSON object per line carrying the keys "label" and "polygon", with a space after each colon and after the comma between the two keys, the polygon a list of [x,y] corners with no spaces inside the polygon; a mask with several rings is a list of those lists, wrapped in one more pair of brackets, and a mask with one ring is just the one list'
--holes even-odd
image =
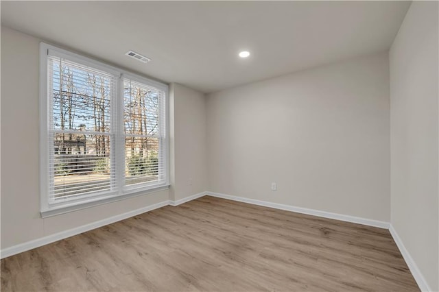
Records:
{"label": "light wood-plank floor of the empty room", "polygon": [[1,291],[419,291],[388,230],[202,197],[1,260]]}

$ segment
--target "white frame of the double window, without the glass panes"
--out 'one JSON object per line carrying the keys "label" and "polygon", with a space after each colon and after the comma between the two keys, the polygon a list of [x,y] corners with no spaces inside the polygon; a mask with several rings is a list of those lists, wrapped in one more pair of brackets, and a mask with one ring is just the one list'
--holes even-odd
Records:
{"label": "white frame of the double window, without the glass panes", "polygon": [[[116,188],[114,191],[107,191],[100,195],[84,196],[78,199],[72,199],[67,202],[50,203],[49,202],[49,182],[51,173],[49,173],[49,159],[50,151],[53,147],[50,145],[49,133],[51,131],[51,100],[49,95],[49,55],[59,58],[65,58],[72,62],[89,66],[93,69],[105,71],[112,75],[115,75],[115,92],[111,100],[111,118],[112,118],[112,130],[110,133],[114,133],[115,141],[113,141],[114,149],[112,155],[115,157],[115,182]],[[135,197],[139,195],[145,195],[147,193],[154,193],[156,191],[163,191],[169,188],[169,86],[161,82],[150,80],[147,77],[126,71],[115,66],[111,66],[104,62],[93,60],[86,56],[82,56],[78,53],[73,53],[65,49],[60,49],[53,45],[48,45],[45,42],[40,42],[40,215],[41,217],[51,217],[54,215],[63,214],[65,212],[71,212],[73,210],[80,210],[83,208],[89,208],[91,206],[98,206],[107,204],[110,202],[116,202],[128,197]],[[123,183],[123,172],[125,171],[125,148],[122,139],[124,139],[123,133],[123,79],[135,80],[141,84],[152,86],[158,90],[163,91],[163,102],[165,103],[163,113],[165,114],[165,122],[163,135],[163,150],[166,152],[163,155],[163,167],[165,173],[164,182],[158,182],[157,184],[150,184],[139,188],[125,188]],[[119,171],[117,171],[119,169]],[[123,169],[120,171],[120,169]]]}

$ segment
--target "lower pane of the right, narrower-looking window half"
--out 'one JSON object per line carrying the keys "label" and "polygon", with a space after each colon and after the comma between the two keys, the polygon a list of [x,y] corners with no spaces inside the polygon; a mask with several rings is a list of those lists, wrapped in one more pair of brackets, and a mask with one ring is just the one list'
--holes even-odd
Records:
{"label": "lower pane of the right, narrower-looking window half", "polygon": [[125,138],[125,184],[158,181],[158,138]]}

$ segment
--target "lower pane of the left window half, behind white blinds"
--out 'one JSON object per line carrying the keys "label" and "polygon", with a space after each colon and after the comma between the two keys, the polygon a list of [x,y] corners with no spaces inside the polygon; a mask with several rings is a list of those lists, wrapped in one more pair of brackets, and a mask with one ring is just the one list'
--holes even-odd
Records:
{"label": "lower pane of the left window half, behind white blinds", "polygon": [[54,135],[52,199],[110,191],[110,135]]}

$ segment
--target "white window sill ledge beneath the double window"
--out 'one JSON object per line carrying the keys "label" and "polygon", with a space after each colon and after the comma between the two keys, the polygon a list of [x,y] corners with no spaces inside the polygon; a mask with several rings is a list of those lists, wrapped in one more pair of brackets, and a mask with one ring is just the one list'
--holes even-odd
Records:
{"label": "white window sill ledge beneath the double window", "polygon": [[112,202],[121,201],[123,199],[128,199],[130,197],[139,197],[141,195],[146,195],[149,193],[156,193],[158,191],[165,191],[169,189],[169,184],[165,186],[157,186],[156,188],[150,188],[148,190],[137,190],[132,191],[131,193],[126,193],[122,195],[114,195],[112,197],[106,197],[106,198],[99,198],[95,199],[94,201],[87,201],[87,202],[78,202],[76,204],[72,204],[69,206],[54,206],[52,208],[49,208],[47,210],[41,210],[40,215],[41,218],[47,218],[52,217],[56,215],[65,214],[68,212],[73,212],[76,210],[82,210],[86,208],[91,208],[99,205],[104,205]]}

